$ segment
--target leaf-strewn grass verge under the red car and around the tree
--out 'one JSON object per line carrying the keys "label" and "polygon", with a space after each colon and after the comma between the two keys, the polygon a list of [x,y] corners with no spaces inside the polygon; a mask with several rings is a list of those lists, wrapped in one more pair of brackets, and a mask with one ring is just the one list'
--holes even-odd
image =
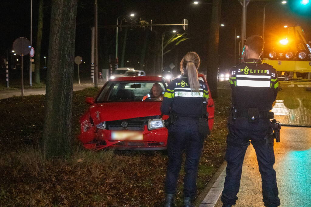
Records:
{"label": "leaf-strewn grass verge under the red car and around the tree", "polygon": [[[230,90],[220,83],[215,123],[202,152],[197,192],[223,162]],[[85,97],[97,89],[74,92],[73,130],[88,108]],[[101,151],[81,148],[75,138],[67,160],[44,160],[36,150],[42,135],[44,95],[0,100],[0,206],[160,206],[164,200],[165,152]],[[177,203],[182,204],[182,170]]]}

